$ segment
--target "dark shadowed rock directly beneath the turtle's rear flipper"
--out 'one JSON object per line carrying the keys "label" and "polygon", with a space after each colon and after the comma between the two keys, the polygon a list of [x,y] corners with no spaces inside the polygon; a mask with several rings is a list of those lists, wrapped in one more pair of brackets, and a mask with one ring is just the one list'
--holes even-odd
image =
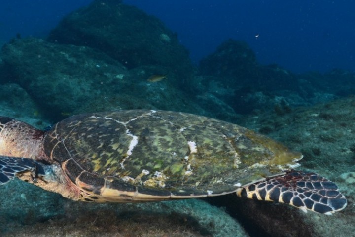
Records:
{"label": "dark shadowed rock directly beneath the turtle's rear flipper", "polygon": [[273,202],[219,196],[208,198],[210,203],[225,208],[238,220],[252,237],[306,237],[317,236],[312,223],[304,221],[299,210]]}

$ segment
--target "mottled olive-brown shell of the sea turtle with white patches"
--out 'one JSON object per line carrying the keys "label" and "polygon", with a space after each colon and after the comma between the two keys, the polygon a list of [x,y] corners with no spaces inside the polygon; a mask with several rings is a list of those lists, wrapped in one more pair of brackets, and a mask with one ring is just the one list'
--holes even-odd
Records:
{"label": "mottled olive-brown shell of the sea turtle with white patches", "polygon": [[44,150],[74,184],[79,180],[100,190],[105,182],[97,180],[115,180],[118,190],[134,187],[156,196],[233,192],[297,167],[302,158],[236,124],[153,110],[67,118],[47,132]]}

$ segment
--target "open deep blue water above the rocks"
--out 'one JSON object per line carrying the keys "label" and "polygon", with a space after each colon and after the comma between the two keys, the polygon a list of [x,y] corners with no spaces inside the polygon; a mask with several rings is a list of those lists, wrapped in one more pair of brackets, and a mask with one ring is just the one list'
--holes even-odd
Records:
{"label": "open deep blue water above the rocks", "polygon": [[[0,42],[44,37],[60,19],[91,0],[1,3]],[[245,40],[263,64],[294,72],[355,71],[355,1],[124,0],[163,20],[198,62],[229,38]],[[259,37],[255,37],[259,35]]]}

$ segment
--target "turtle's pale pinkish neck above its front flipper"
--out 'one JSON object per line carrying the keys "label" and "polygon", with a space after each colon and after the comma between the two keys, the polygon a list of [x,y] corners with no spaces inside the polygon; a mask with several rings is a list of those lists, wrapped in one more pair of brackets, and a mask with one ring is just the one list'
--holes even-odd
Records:
{"label": "turtle's pale pinkish neck above its front flipper", "polygon": [[0,155],[37,159],[43,135],[30,124],[0,116]]}

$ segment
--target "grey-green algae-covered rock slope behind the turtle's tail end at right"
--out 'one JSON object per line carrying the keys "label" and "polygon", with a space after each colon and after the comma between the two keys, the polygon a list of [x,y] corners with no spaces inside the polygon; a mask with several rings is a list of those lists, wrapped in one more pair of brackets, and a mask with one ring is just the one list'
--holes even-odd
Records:
{"label": "grey-green algae-covered rock slope behind the turtle's tail end at right", "polygon": [[[348,237],[355,233],[355,97],[343,98],[289,113],[259,113],[240,124],[301,151],[302,170],[317,172],[335,181],[347,197],[348,206],[331,216],[303,214],[304,224],[313,227],[313,236]],[[260,215],[259,211],[257,214]],[[256,215],[256,213],[254,213]],[[267,223],[261,225],[268,225]],[[300,224],[301,225],[301,224]]]}

